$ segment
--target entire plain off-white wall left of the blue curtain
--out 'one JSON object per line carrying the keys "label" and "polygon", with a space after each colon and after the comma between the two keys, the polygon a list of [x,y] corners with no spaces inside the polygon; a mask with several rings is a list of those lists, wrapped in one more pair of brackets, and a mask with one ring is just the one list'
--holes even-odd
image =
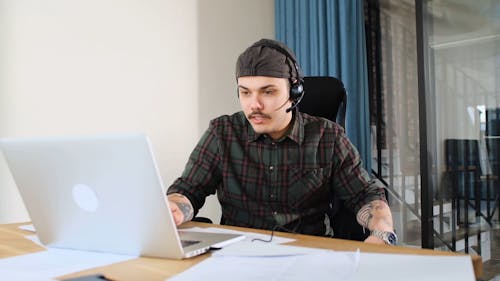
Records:
{"label": "entire plain off-white wall left of the blue curtain", "polygon": [[[273,6],[0,0],[0,137],[145,132],[168,186],[208,119],[238,110],[236,56],[274,37]],[[0,155],[0,223],[28,219]]]}

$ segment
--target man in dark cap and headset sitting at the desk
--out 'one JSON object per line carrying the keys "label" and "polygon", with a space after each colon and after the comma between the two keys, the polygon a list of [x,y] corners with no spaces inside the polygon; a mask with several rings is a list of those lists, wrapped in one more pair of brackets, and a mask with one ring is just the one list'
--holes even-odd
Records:
{"label": "man in dark cap and headset sitting at the desk", "polygon": [[168,190],[176,224],[217,192],[225,224],[329,235],[333,194],[370,230],[365,242],[394,244],[384,188],[343,129],[297,110],[303,76],[292,51],[262,39],[239,56],[236,78],[242,111],[210,122]]}

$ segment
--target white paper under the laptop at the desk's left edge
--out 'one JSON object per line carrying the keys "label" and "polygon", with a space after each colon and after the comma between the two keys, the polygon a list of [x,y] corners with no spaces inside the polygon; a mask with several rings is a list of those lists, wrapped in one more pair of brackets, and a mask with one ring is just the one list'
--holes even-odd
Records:
{"label": "white paper under the laptop at the desk's left edge", "polygon": [[134,258],[136,257],[48,248],[47,251],[0,259],[0,276],[2,272],[10,274],[28,272],[43,280]]}

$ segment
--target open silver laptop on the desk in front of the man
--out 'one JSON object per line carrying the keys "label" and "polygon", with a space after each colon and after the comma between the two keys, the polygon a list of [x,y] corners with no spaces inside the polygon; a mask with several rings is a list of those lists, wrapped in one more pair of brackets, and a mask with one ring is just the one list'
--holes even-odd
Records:
{"label": "open silver laptop on the desk in front of the man", "polygon": [[48,247],[182,259],[244,238],[178,231],[145,135],[0,139],[0,150]]}

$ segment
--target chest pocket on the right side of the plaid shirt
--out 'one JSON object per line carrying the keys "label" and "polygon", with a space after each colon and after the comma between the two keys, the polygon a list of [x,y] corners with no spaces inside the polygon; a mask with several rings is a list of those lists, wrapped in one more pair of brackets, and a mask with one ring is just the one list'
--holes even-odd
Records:
{"label": "chest pocket on the right side of the plaid shirt", "polygon": [[295,208],[314,207],[329,198],[331,166],[294,169],[290,173],[288,203]]}

